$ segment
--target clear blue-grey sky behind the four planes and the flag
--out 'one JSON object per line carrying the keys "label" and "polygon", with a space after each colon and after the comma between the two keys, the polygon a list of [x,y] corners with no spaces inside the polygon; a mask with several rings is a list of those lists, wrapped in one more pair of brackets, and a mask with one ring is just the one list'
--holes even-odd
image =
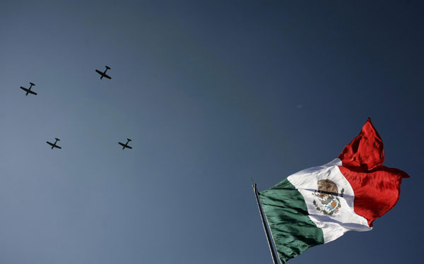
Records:
{"label": "clear blue-grey sky behind the four planes and the flag", "polygon": [[399,203],[290,263],[419,262],[424,4],[342,2],[1,1],[0,263],[271,263],[250,178],[368,116]]}

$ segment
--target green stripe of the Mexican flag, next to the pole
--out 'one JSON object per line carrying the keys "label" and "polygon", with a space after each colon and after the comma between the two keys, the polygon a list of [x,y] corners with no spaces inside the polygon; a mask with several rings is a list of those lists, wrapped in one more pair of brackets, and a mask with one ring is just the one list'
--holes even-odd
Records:
{"label": "green stripe of the Mexican flag, next to the pole", "polygon": [[302,194],[287,179],[259,193],[281,263],[307,248],[324,244],[322,230],[310,217]]}

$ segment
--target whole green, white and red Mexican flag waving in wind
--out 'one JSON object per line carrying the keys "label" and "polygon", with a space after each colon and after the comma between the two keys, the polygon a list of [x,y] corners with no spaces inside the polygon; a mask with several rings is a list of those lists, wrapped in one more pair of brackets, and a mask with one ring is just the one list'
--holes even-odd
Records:
{"label": "whole green, white and red Mexican flag waving in wind", "polygon": [[259,192],[280,263],[348,231],[370,231],[399,199],[400,169],[382,166],[382,139],[368,119],[335,160]]}

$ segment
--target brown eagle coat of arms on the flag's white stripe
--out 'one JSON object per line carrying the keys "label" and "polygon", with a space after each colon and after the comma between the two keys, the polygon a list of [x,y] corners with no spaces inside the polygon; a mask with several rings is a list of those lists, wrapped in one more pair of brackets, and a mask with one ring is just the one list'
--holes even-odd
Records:
{"label": "brown eagle coat of arms on the flag's white stripe", "polygon": [[317,181],[317,186],[317,191],[312,193],[317,197],[317,200],[313,202],[315,208],[324,215],[336,215],[341,208],[338,196],[343,197],[344,188],[341,189],[339,194],[336,184],[329,179]]}

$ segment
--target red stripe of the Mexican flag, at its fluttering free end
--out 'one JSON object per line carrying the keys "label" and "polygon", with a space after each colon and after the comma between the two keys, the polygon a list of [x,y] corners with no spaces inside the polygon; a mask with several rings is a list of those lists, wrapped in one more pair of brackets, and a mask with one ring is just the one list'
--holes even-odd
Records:
{"label": "red stripe of the Mexican flag, at its fluttering free end", "polygon": [[353,210],[365,217],[368,225],[396,205],[401,191],[401,179],[406,172],[382,166],[384,147],[371,120],[368,119],[359,135],[346,145],[338,156],[340,171],[355,193]]}

